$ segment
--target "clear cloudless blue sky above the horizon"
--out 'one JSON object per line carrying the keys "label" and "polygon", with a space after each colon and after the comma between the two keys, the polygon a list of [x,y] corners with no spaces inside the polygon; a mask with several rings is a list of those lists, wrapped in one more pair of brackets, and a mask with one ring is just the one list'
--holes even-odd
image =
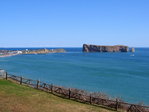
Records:
{"label": "clear cloudless blue sky above the horizon", "polygon": [[149,47],[149,0],[0,0],[0,47]]}

